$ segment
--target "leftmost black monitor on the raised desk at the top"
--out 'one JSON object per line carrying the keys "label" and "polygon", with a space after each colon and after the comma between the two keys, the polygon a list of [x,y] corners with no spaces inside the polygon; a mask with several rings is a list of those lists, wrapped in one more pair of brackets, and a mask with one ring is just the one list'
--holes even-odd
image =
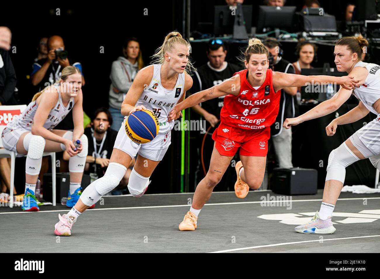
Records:
{"label": "leftmost black monitor on the raised desk at the top", "polygon": [[[242,5],[245,29],[251,33],[252,5]],[[234,13],[234,14],[233,14]],[[229,6],[214,6],[214,35],[233,34],[236,10],[230,10]]]}

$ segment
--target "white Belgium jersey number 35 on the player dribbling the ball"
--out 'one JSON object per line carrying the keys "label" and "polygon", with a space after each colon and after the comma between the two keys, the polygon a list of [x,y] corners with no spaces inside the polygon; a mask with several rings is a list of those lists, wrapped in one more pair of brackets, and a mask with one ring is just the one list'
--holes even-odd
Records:
{"label": "white Belgium jersey number 35 on the player dribbling the ball", "polygon": [[160,123],[158,134],[165,134],[173,129],[174,120],[168,122],[168,114],[173,110],[178,100],[184,93],[185,72],[178,74],[177,84],[172,90],[161,85],[161,64],[153,64],[154,73],[148,87],[144,88],[136,106],[145,106],[152,110]]}

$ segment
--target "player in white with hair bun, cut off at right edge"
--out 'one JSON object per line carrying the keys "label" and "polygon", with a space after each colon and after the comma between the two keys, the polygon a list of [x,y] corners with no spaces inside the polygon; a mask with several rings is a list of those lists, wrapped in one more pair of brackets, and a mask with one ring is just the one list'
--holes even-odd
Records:
{"label": "player in white with hair bun, cut off at right edge", "polygon": [[335,45],[335,64],[339,72],[347,72],[358,81],[359,88],[354,91],[340,88],[331,99],[322,102],[312,110],[296,118],[286,119],[285,128],[306,120],[318,118],[337,110],[347,101],[351,93],[359,99],[359,105],[344,115],[334,119],[326,127],[328,136],[333,136],[338,125],[360,120],[369,112],[377,117],[355,132],[342,145],[331,151],[327,166],[325,190],[320,211],[308,224],[295,228],[299,233],[334,233],[331,215],[342,190],[345,168],[360,159],[369,158],[380,170],[380,66],[361,61],[363,50],[368,42],[362,35],[343,37]]}

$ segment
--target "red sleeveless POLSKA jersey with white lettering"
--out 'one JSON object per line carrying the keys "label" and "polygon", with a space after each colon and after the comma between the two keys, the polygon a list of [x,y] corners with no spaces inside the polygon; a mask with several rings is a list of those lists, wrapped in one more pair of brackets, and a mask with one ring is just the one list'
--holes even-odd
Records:
{"label": "red sleeveless POLSKA jersey with white lettering", "polygon": [[[241,129],[264,129],[271,126],[279,112],[280,91],[275,92],[272,70],[266,70],[266,78],[260,88],[253,88],[248,80],[248,69],[234,74],[240,76],[240,94],[227,95],[220,112],[222,123]],[[282,123],[281,123],[282,124]]]}

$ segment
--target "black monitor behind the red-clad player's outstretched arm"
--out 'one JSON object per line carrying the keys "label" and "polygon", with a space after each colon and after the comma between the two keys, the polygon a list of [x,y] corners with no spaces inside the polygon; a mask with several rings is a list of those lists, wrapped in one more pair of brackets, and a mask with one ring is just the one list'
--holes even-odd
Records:
{"label": "black monitor behind the red-clad player's outstretched arm", "polygon": [[[332,70],[332,71],[331,71]],[[338,72],[336,68],[324,67],[324,68],[312,68],[312,69],[301,69],[301,75],[303,76],[334,76],[343,77],[347,76],[346,72]],[[332,95],[339,91],[339,84],[311,84],[310,86],[301,87],[301,98],[302,99],[314,99],[318,102],[326,101]],[[332,92],[333,90],[333,92]]]}

